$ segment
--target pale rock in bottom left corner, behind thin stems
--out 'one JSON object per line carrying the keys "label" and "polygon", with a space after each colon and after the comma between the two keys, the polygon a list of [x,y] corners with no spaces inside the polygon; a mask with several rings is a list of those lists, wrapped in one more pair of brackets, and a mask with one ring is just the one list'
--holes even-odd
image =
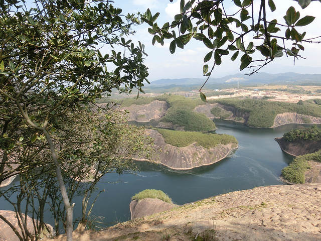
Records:
{"label": "pale rock in bottom left corner, behind thin stems", "polygon": [[[9,211],[9,210],[0,210],[0,215],[5,217],[17,229],[19,234],[22,235],[21,229],[18,224],[16,212]],[[23,216],[25,216],[25,214],[23,214]],[[33,220],[29,216],[27,216],[26,225],[29,232],[34,235],[35,232],[34,232]],[[46,230],[43,235],[50,237],[53,235],[53,227],[49,224],[47,224],[47,226],[49,228],[49,232]],[[20,241],[19,237],[15,234],[13,229],[4,220],[0,218],[0,241],[6,241],[6,240]]]}

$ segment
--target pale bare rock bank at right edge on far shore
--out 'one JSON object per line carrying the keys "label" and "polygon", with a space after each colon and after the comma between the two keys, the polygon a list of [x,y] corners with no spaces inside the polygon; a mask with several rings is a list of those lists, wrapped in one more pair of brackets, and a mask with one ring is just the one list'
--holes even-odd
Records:
{"label": "pale bare rock bank at right edge on far shore", "polygon": [[282,113],[275,116],[274,125],[272,127],[278,127],[292,123],[321,124],[321,118],[298,113]]}

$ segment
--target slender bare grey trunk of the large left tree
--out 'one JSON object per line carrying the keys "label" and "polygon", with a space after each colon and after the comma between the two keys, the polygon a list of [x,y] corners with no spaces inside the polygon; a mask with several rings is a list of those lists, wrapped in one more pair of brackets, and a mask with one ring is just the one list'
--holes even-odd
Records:
{"label": "slender bare grey trunk of the large left tree", "polygon": [[64,204],[66,207],[66,235],[67,235],[67,241],[72,241],[72,231],[73,231],[73,206],[70,205],[69,202],[69,198],[68,198],[68,194],[66,191],[66,186],[64,184],[64,180],[61,174],[61,168],[59,165],[59,162],[57,160],[57,153],[55,150],[55,145],[51,140],[51,137],[49,135],[49,133],[46,130],[43,130],[43,133],[46,136],[47,142],[49,144],[50,147],[50,151],[51,151],[51,156],[53,158],[54,164],[55,164],[55,170],[56,170],[56,174],[57,174],[57,178],[58,178],[58,183],[59,183],[59,187],[61,190],[61,194],[64,200]]}

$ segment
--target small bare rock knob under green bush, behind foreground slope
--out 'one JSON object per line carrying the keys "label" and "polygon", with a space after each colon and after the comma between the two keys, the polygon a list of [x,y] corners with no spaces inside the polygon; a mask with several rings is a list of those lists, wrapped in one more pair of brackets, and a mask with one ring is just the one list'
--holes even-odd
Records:
{"label": "small bare rock knob under green bush, behind foreground slope", "polygon": [[173,203],[164,202],[157,198],[144,198],[132,200],[129,204],[131,219],[150,216],[154,213],[164,212],[176,207]]}

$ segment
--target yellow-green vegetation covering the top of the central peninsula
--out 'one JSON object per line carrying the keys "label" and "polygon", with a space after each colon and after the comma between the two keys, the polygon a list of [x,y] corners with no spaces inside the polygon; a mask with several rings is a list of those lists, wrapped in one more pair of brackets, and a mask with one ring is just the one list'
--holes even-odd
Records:
{"label": "yellow-green vegetation covering the top of the central peninsula", "polygon": [[171,131],[167,129],[155,129],[163,135],[165,142],[176,147],[187,147],[193,143],[204,148],[214,148],[219,144],[237,144],[235,137],[225,134],[210,134],[199,132]]}

